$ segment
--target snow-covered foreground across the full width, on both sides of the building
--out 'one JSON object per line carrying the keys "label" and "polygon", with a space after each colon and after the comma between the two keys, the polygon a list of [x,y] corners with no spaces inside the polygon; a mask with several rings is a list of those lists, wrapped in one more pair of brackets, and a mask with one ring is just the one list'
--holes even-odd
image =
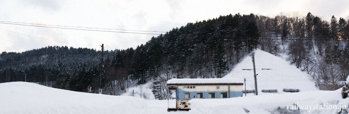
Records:
{"label": "snow-covered foreground across the full width, on both sides of the building", "polygon": [[[167,112],[167,100],[75,92],[29,82],[0,83],[0,90],[0,114],[336,114],[341,108],[349,110],[349,98],[342,99],[340,90],[192,99],[190,111],[176,112]],[[304,109],[295,109],[295,104]]]}

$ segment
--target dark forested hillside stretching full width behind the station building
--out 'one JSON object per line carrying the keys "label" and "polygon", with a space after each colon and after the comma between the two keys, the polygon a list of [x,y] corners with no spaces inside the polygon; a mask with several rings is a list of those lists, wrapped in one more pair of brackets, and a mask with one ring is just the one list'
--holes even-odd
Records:
{"label": "dark forested hillside stretching full width behind the station building", "polygon": [[[126,50],[104,51],[104,93],[120,95],[129,84],[154,79],[153,93],[165,98],[171,78],[221,78],[255,48],[309,72],[318,83],[338,84],[349,74],[349,25],[308,13],[305,17],[227,15],[188,23]],[[2,52],[0,83],[53,82],[53,87],[99,88],[101,51],[49,46],[22,53]]]}

